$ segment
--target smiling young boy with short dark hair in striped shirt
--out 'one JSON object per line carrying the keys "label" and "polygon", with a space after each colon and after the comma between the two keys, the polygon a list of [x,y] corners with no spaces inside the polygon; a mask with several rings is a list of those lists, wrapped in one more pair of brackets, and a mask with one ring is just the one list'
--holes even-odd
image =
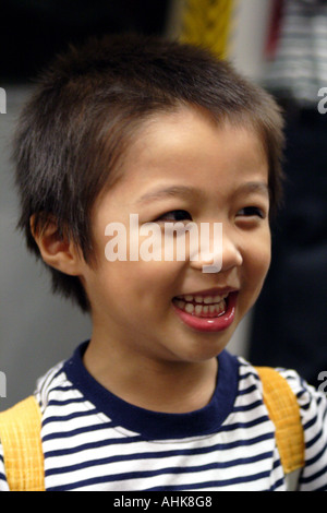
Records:
{"label": "smiling young boy with short dark hair in striped shirt", "polygon": [[[35,392],[46,490],[286,489],[258,370],[225,349],[269,267],[281,146],[270,96],[197,48],[117,36],[43,74],[15,140],[20,226],[93,321]],[[193,251],[190,224],[222,238]],[[279,375],[301,411],[298,487],[325,490],[326,397]]]}

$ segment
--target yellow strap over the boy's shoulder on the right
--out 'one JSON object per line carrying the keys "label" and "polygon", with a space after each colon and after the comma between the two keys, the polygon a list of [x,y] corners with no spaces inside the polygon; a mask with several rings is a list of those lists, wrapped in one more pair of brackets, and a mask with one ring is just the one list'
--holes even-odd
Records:
{"label": "yellow strap over the boy's shoulder on the right", "polygon": [[264,403],[275,423],[276,442],[284,474],[304,466],[304,433],[300,407],[289,383],[277,370],[256,367],[263,383]]}

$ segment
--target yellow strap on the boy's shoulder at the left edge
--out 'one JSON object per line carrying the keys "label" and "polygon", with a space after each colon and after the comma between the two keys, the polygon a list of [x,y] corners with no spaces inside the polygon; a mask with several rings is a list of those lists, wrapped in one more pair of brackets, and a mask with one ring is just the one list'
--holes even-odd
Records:
{"label": "yellow strap on the boy's shoulder at the left edge", "polygon": [[34,396],[0,413],[0,439],[11,491],[44,491],[41,414]]}

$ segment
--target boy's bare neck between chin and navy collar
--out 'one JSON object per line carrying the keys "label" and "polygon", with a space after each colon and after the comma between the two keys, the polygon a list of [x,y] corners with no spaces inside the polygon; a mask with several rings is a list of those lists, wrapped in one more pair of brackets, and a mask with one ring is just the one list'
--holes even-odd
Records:
{"label": "boy's bare neck between chin and navy collar", "polygon": [[84,355],[88,372],[107,390],[135,406],[187,413],[206,406],[216,387],[217,359],[180,362],[134,357],[114,344],[92,339]]}

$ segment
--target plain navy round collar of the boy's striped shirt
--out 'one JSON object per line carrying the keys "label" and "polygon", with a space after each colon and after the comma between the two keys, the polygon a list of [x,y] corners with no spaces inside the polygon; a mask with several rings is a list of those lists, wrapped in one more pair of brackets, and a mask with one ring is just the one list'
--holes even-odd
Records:
{"label": "plain navy round collar of the boy's striped shirt", "polygon": [[168,440],[199,437],[217,432],[233,410],[238,394],[239,360],[223,350],[218,356],[218,380],[210,403],[186,414],[150,411],[117,397],[86,370],[83,355],[88,342],[76,348],[64,363],[64,371],[73,385],[99,413],[107,415],[116,426],[141,434],[146,440]]}

